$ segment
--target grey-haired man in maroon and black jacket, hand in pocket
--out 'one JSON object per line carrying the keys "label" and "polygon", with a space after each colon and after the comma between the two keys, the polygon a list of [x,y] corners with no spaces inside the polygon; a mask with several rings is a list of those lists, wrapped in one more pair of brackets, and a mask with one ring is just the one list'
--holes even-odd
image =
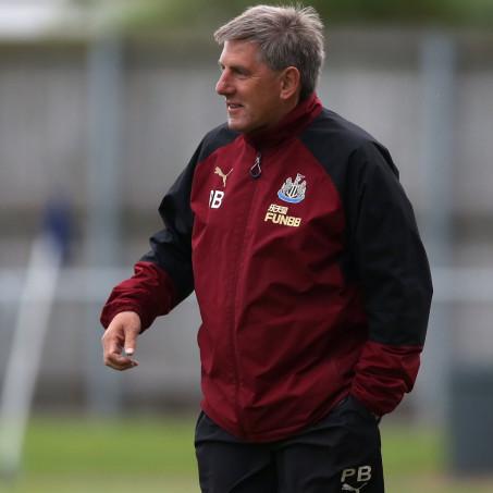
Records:
{"label": "grey-haired man in maroon and black jacket, hand in pocket", "polygon": [[[322,24],[259,5],[222,26],[211,131],[101,321],[106,365],[195,289],[202,492],[384,491],[378,421],[414,385],[431,279],[389,151],[315,94]],[[125,355],[122,355],[125,349]]]}

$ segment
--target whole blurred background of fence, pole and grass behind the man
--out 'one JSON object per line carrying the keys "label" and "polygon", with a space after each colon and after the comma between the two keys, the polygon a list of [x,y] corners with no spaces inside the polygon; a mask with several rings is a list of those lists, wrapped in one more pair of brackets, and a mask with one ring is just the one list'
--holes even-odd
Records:
{"label": "whole blurred background of fence, pole and grass behind the man", "polygon": [[[98,318],[225,119],[212,32],[250,4],[0,0],[0,491],[198,491],[194,296],[124,374]],[[382,423],[390,491],[493,491],[493,0],[304,4],[318,94],[390,148],[432,264],[416,389]]]}

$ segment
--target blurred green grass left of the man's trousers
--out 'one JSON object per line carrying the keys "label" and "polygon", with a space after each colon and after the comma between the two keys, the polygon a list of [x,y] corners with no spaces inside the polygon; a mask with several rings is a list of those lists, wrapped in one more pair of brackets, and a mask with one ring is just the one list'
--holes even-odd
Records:
{"label": "blurred green grass left of the man's trousers", "polygon": [[192,418],[38,418],[21,474],[0,492],[197,493],[193,434]]}

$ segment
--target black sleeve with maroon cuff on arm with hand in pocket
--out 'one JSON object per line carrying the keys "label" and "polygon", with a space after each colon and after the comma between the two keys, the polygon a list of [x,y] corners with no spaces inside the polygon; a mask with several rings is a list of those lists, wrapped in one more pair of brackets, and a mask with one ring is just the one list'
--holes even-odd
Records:
{"label": "black sleeve with maroon cuff on arm with hand in pocket", "polygon": [[412,207],[386,149],[365,144],[350,170],[348,242],[368,321],[352,394],[383,415],[414,386],[432,282]]}

